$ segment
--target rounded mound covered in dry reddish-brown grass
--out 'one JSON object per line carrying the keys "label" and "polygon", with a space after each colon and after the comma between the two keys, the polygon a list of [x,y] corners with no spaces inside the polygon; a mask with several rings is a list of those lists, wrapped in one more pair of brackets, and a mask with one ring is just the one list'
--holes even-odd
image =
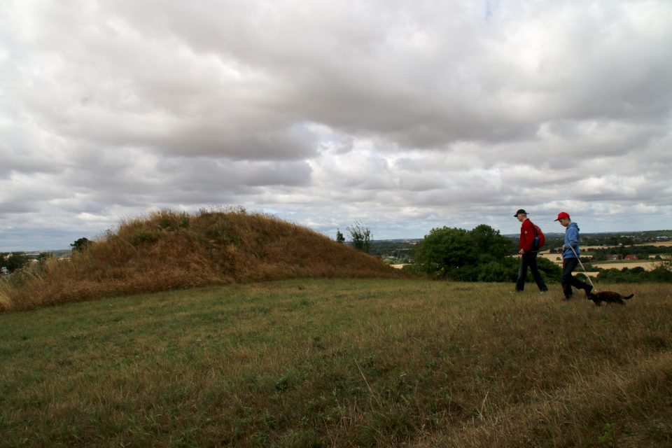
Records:
{"label": "rounded mound covered in dry reddish-brown grass", "polygon": [[70,260],[42,260],[0,285],[16,311],[210,284],[410,276],[309,228],[241,207],[127,219]]}

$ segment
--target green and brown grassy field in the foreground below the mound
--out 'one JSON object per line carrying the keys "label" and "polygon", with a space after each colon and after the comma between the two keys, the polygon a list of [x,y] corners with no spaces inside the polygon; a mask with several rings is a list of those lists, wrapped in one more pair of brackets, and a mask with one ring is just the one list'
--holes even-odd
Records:
{"label": "green and brown grassy field in the foreground below the mound", "polygon": [[293,279],[0,314],[1,447],[670,447],[672,290]]}

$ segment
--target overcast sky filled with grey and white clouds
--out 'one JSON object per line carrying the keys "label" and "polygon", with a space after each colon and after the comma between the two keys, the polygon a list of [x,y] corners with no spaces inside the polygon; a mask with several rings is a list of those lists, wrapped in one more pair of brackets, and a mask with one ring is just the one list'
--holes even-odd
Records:
{"label": "overcast sky filled with grey and white clouds", "polygon": [[3,0],[0,251],[239,204],[672,229],[672,2]]}

